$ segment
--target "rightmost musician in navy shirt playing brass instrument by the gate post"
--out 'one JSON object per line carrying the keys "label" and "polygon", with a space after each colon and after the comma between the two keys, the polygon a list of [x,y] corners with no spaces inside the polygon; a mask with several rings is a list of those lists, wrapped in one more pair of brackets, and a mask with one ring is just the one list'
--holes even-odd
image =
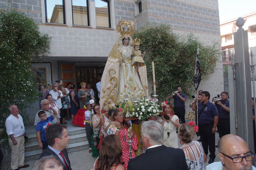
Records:
{"label": "rightmost musician in navy shirt playing brass instrument by the gate post", "polygon": [[[221,93],[222,100],[216,103],[218,109],[219,119],[218,119],[218,132],[220,138],[224,135],[230,134],[230,118],[229,118],[229,100],[228,92]],[[216,145],[218,147],[218,145]]]}

